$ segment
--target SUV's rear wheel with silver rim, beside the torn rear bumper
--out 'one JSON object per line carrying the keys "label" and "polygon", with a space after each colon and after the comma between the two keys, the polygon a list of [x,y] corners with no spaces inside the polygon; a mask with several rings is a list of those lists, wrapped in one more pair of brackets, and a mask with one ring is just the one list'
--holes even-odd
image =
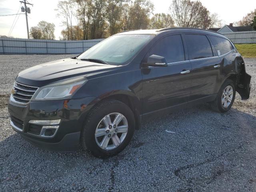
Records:
{"label": "SUV's rear wheel with silver rim, beside the torn rear bumper", "polygon": [[[232,87],[232,91],[231,91],[230,87]],[[226,91],[226,90],[228,90],[228,88],[230,88],[230,93],[232,92],[232,99],[231,99],[231,102],[230,102],[230,97],[226,98],[227,103],[225,105],[225,102],[223,103],[223,98],[225,100],[225,97],[226,97],[224,95],[224,90]],[[210,103],[212,110],[214,110],[216,112],[219,112],[219,113],[227,112],[232,107],[232,105],[234,103],[234,100],[235,100],[235,97],[236,97],[236,89],[235,89],[234,82],[230,79],[227,79],[222,84],[214,102]]]}

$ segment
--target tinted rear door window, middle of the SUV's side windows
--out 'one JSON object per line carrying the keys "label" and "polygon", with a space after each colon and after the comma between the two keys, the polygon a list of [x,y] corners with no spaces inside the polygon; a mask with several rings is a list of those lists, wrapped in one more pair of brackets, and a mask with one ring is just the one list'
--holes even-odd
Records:
{"label": "tinted rear door window, middle of the SUV's side windows", "polygon": [[212,57],[212,48],[205,35],[185,35],[190,59]]}

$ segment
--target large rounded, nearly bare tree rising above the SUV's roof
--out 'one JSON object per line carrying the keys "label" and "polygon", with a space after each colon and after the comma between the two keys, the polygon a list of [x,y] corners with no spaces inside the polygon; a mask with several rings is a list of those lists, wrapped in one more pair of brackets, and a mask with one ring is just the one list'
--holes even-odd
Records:
{"label": "large rounded, nearly bare tree rising above the SUV's roof", "polygon": [[173,0],[171,16],[179,27],[209,28],[210,12],[200,1]]}

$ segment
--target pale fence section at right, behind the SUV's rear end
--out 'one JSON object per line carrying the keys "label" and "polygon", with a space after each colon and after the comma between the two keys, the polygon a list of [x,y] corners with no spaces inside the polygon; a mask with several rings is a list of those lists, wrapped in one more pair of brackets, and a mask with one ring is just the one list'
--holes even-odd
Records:
{"label": "pale fence section at right, behind the SUV's rear end", "polygon": [[256,31],[222,33],[233,43],[256,43]]}

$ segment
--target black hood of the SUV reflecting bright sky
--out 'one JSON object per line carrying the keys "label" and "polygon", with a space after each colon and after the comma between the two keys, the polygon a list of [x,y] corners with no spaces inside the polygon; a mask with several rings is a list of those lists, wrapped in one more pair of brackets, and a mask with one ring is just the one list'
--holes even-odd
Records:
{"label": "black hood of the SUV reflecting bright sky", "polygon": [[76,76],[90,77],[94,74],[113,70],[116,67],[67,58],[39,64],[23,70],[18,74],[16,81],[30,86],[41,87]]}

